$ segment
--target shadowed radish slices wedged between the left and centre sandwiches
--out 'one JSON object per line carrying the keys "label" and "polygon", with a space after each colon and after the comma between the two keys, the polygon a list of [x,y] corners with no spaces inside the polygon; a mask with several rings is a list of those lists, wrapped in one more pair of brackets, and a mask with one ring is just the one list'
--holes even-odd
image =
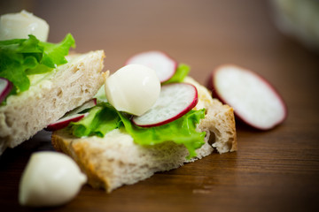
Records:
{"label": "shadowed radish slices wedged between the left and centre sandwiches", "polygon": [[83,103],[82,106],[77,107],[74,110],[71,110],[70,112],[66,113],[66,115],[64,117],[61,117],[60,119],[58,119],[57,122],[52,123],[51,125],[48,125],[45,128],[45,130],[46,131],[57,131],[57,130],[65,128],[71,122],[78,122],[83,117],[86,117],[89,115],[89,113],[81,113],[81,112],[83,110],[87,110],[89,108],[92,108],[95,105],[97,105],[97,99],[91,99],[88,102]]}

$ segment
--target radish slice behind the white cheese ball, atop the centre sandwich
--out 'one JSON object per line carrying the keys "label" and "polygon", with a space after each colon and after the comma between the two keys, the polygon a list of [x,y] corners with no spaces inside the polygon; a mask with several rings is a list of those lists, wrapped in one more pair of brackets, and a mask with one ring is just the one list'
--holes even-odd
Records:
{"label": "radish slice behind the white cheese ball, atop the centre sandwich", "polygon": [[161,51],[147,51],[130,57],[126,64],[144,64],[152,68],[159,77],[159,81],[166,82],[176,72],[177,62]]}

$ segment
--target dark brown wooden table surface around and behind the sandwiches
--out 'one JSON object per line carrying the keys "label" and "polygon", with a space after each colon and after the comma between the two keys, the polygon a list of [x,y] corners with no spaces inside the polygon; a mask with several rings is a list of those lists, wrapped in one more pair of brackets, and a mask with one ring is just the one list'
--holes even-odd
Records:
{"label": "dark brown wooden table surface around and behind the sandwiches", "polygon": [[[29,1],[24,6],[49,22],[50,42],[70,32],[79,52],[105,49],[105,69],[111,72],[150,49],[190,64],[191,76],[201,83],[217,65],[237,64],[268,79],[289,109],[284,124],[268,132],[237,122],[235,153],[214,153],[111,194],[83,186],[74,201],[48,210],[319,211],[319,55],[276,29],[267,1]],[[18,204],[19,178],[38,150],[53,150],[50,133],[38,133],[1,156],[1,211],[31,210]]]}

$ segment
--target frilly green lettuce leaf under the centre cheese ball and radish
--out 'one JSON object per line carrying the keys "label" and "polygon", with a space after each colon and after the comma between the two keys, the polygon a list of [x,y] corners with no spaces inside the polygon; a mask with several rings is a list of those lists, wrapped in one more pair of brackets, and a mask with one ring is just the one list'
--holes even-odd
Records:
{"label": "frilly green lettuce leaf under the centre cheese ball and radish", "polygon": [[189,159],[196,156],[195,150],[204,144],[206,133],[196,131],[197,124],[204,117],[205,110],[191,110],[166,125],[139,127],[132,124],[127,114],[115,110],[107,102],[102,102],[89,110],[89,116],[79,122],[71,123],[69,127],[77,137],[92,135],[104,137],[106,133],[124,127],[139,145],[156,145],[167,140],[182,144],[189,150],[190,155],[187,157]]}

